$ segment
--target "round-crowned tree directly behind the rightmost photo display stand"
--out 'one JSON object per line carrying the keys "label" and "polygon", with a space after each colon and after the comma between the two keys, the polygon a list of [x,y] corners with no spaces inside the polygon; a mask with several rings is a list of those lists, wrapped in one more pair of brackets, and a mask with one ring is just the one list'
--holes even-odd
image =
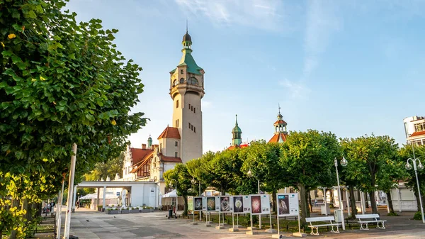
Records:
{"label": "round-crowned tree directly behind the rightmost photo display stand", "polygon": [[336,135],[307,132],[290,132],[281,144],[280,165],[290,175],[288,182],[300,191],[303,223],[310,216],[307,206],[307,190],[329,186],[335,182],[334,158],[341,157],[341,148]]}

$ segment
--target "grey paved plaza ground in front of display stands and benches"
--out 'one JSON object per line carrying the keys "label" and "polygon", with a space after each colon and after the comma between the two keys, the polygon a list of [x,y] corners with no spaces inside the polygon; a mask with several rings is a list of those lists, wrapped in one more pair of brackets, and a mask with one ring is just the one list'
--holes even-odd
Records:
{"label": "grey paved plaza ground in front of display stands and benches", "polygon": [[[316,215],[317,214],[317,215]],[[385,215],[385,211],[381,215]],[[205,221],[194,226],[192,220],[167,219],[165,211],[154,213],[135,213],[108,215],[89,209],[77,209],[72,214],[71,235],[79,239],[95,238],[271,238],[272,233],[259,231],[259,235],[246,235],[246,229],[239,232],[229,232],[225,229],[215,229],[205,226]],[[312,213],[312,216],[319,216]],[[425,225],[421,221],[409,220],[412,212],[403,212],[400,216],[387,217],[386,229],[370,228],[370,230],[348,229],[341,233],[330,233],[319,230],[320,235],[307,235],[307,238],[425,238]],[[63,233],[63,231],[62,231]],[[292,238],[290,233],[283,232],[285,238]]]}

